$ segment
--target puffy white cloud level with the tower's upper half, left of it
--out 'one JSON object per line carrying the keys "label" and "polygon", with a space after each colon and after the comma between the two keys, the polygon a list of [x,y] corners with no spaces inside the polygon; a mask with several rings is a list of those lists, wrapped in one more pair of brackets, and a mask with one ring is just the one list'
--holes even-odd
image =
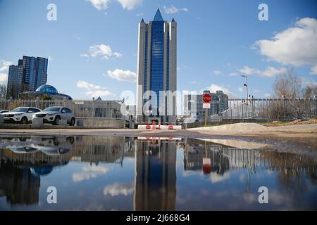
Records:
{"label": "puffy white cloud level with the tower's upper half, left of it", "polygon": [[82,53],[80,57],[101,57],[101,59],[108,60],[111,56],[120,58],[123,55],[118,52],[113,52],[111,47],[106,44],[96,44],[89,47],[89,53]]}

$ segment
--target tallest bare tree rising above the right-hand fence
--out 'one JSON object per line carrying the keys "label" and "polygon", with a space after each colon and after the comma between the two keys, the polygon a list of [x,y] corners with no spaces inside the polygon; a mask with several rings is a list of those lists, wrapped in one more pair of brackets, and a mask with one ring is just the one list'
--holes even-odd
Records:
{"label": "tallest bare tree rising above the right-hand fence", "polygon": [[297,98],[302,91],[302,80],[294,73],[294,69],[287,71],[286,75],[282,75],[275,79],[273,84],[275,96],[277,98]]}

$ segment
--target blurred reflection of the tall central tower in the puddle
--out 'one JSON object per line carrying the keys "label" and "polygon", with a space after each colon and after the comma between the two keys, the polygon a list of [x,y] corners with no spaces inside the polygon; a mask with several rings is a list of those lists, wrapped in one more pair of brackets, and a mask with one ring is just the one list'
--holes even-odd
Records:
{"label": "blurred reflection of the tall central tower in the puddle", "polygon": [[176,143],[137,140],[134,210],[175,210]]}

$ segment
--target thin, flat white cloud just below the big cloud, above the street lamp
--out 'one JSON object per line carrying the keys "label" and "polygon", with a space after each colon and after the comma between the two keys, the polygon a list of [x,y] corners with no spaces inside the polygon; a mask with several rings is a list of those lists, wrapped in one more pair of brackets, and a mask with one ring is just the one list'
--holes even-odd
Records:
{"label": "thin, flat white cloud just below the big cloud, above the street lamp", "polygon": [[278,75],[285,75],[287,69],[285,68],[273,68],[268,66],[266,70],[257,70],[254,68],[249,68],[247,65],[244,65],[243,68],[239,70],[243,75],[259,75],[261,77],[275,77]]}

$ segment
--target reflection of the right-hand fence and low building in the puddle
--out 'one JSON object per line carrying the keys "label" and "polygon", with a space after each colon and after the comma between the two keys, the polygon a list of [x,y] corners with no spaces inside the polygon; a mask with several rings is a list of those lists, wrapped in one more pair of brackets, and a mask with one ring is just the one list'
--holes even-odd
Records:
{"label": "reflection of the right-hand fence and low building in the puddle", "polygon": [[271,170],[307,169],[315,170],[317,159],[293,153],[278,153],[261,149],[240,149],[207,143],[207,153],[204,145],[196,150],[189,146],[184,154],[185,169],[203,168],[203,158],[211,158],[211,167],[223,169],[263,167]]}

